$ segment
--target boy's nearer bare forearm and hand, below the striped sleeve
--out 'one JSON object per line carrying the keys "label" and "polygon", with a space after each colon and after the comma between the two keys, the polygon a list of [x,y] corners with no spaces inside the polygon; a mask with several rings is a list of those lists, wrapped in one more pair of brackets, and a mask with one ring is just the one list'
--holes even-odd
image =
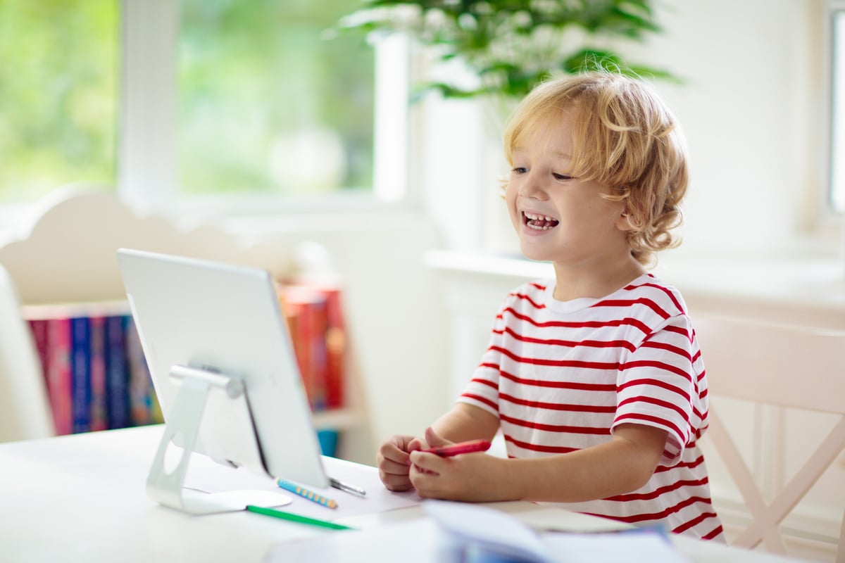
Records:
{"label": "boy's nearer bare forearm and hand, below the striped sleeve", "polygon": [[550,457],[413,452],[410,479],[422,496],[456,501],[593,501],[645,485],[665,443],[666,430],[626,424],[608,442]]}

